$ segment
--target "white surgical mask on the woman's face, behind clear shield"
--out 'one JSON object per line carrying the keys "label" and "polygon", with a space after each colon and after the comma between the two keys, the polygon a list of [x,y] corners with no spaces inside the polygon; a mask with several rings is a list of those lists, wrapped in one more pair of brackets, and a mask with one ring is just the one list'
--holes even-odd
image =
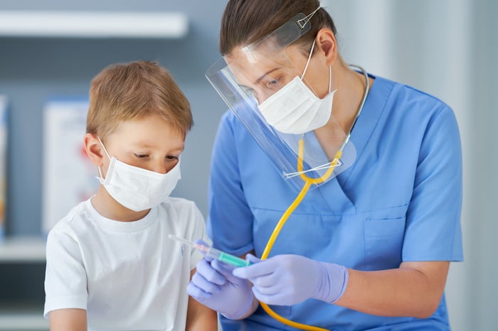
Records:
{"label": "white surgical mask on the woman's face, behind clear shield", "polygon": [[313,53],[314,41],[301,77],[296,76],[282,89],[258,105],[268,124],[284,134],[304,134],[324,126],[332,114],[332,67],[329,67],[329,94],[319,99],[302,81]]}

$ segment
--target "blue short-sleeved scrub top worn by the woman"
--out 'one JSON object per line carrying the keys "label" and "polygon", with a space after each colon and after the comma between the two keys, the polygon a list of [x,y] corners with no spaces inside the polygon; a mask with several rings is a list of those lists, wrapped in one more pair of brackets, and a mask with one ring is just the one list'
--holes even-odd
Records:
{"label": "blue short-sleeved scrub top worn by the woman", "polygon": [[[361,271],[403,261],[462,261],[462,155],[452,109],[381,77],[351,141],[356,161],[310,190],[282,228],[270,256],[299,254]],[[208,234],[231,254],[261,256],[296,190],[232,112],[218,128],[209,183]],[[309,299],[272,306],[290,320],[327,330],[449,330],[445,298],[431,318],[386,318]],[[224,331],[294,330],[261,308],[222,318]]]}

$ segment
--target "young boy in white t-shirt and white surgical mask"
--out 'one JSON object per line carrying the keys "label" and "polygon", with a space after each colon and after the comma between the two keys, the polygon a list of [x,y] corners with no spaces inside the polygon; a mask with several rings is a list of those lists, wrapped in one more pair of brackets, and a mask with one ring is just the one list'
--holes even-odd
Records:
{"label": "young boy in white t-shirt and white surgical mask", "polygon": [[157,63],[111,65],[92,80],[84,141],[101,185],[48,234],[52,331],[217,330],[216,313],[186,293],[201,254],[168,238],[206,239],[194,202],[169,197],[192,124]]}

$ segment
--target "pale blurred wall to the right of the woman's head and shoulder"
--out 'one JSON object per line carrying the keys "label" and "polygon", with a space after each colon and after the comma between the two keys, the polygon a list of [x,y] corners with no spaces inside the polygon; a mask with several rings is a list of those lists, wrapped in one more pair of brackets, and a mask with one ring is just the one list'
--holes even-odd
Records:
{"label": "pale blurred wall to the right of the woman's head and shoulder", "polygon": [[446,295],[452,330],[498,330],[496,175],[498,2],[322,0],[349,63],[443,99],[460,125],[465,261]]}

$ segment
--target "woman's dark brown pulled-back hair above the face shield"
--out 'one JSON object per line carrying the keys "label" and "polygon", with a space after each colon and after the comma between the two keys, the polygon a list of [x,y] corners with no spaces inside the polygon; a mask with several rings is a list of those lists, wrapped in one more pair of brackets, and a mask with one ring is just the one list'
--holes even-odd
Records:
{"label": "woman's dark brown pulled-back hair above the face shield", "polygon": [[[220,53],[230,55],[238,47],[250,45],[287,23],[297,13],[308,15],[319,7],[319,0],[229,0],[221,18]],[[337,33],[329,13],[320,8],[311,20],[311,29],[295,45],[305,53],[321,28]]]}

